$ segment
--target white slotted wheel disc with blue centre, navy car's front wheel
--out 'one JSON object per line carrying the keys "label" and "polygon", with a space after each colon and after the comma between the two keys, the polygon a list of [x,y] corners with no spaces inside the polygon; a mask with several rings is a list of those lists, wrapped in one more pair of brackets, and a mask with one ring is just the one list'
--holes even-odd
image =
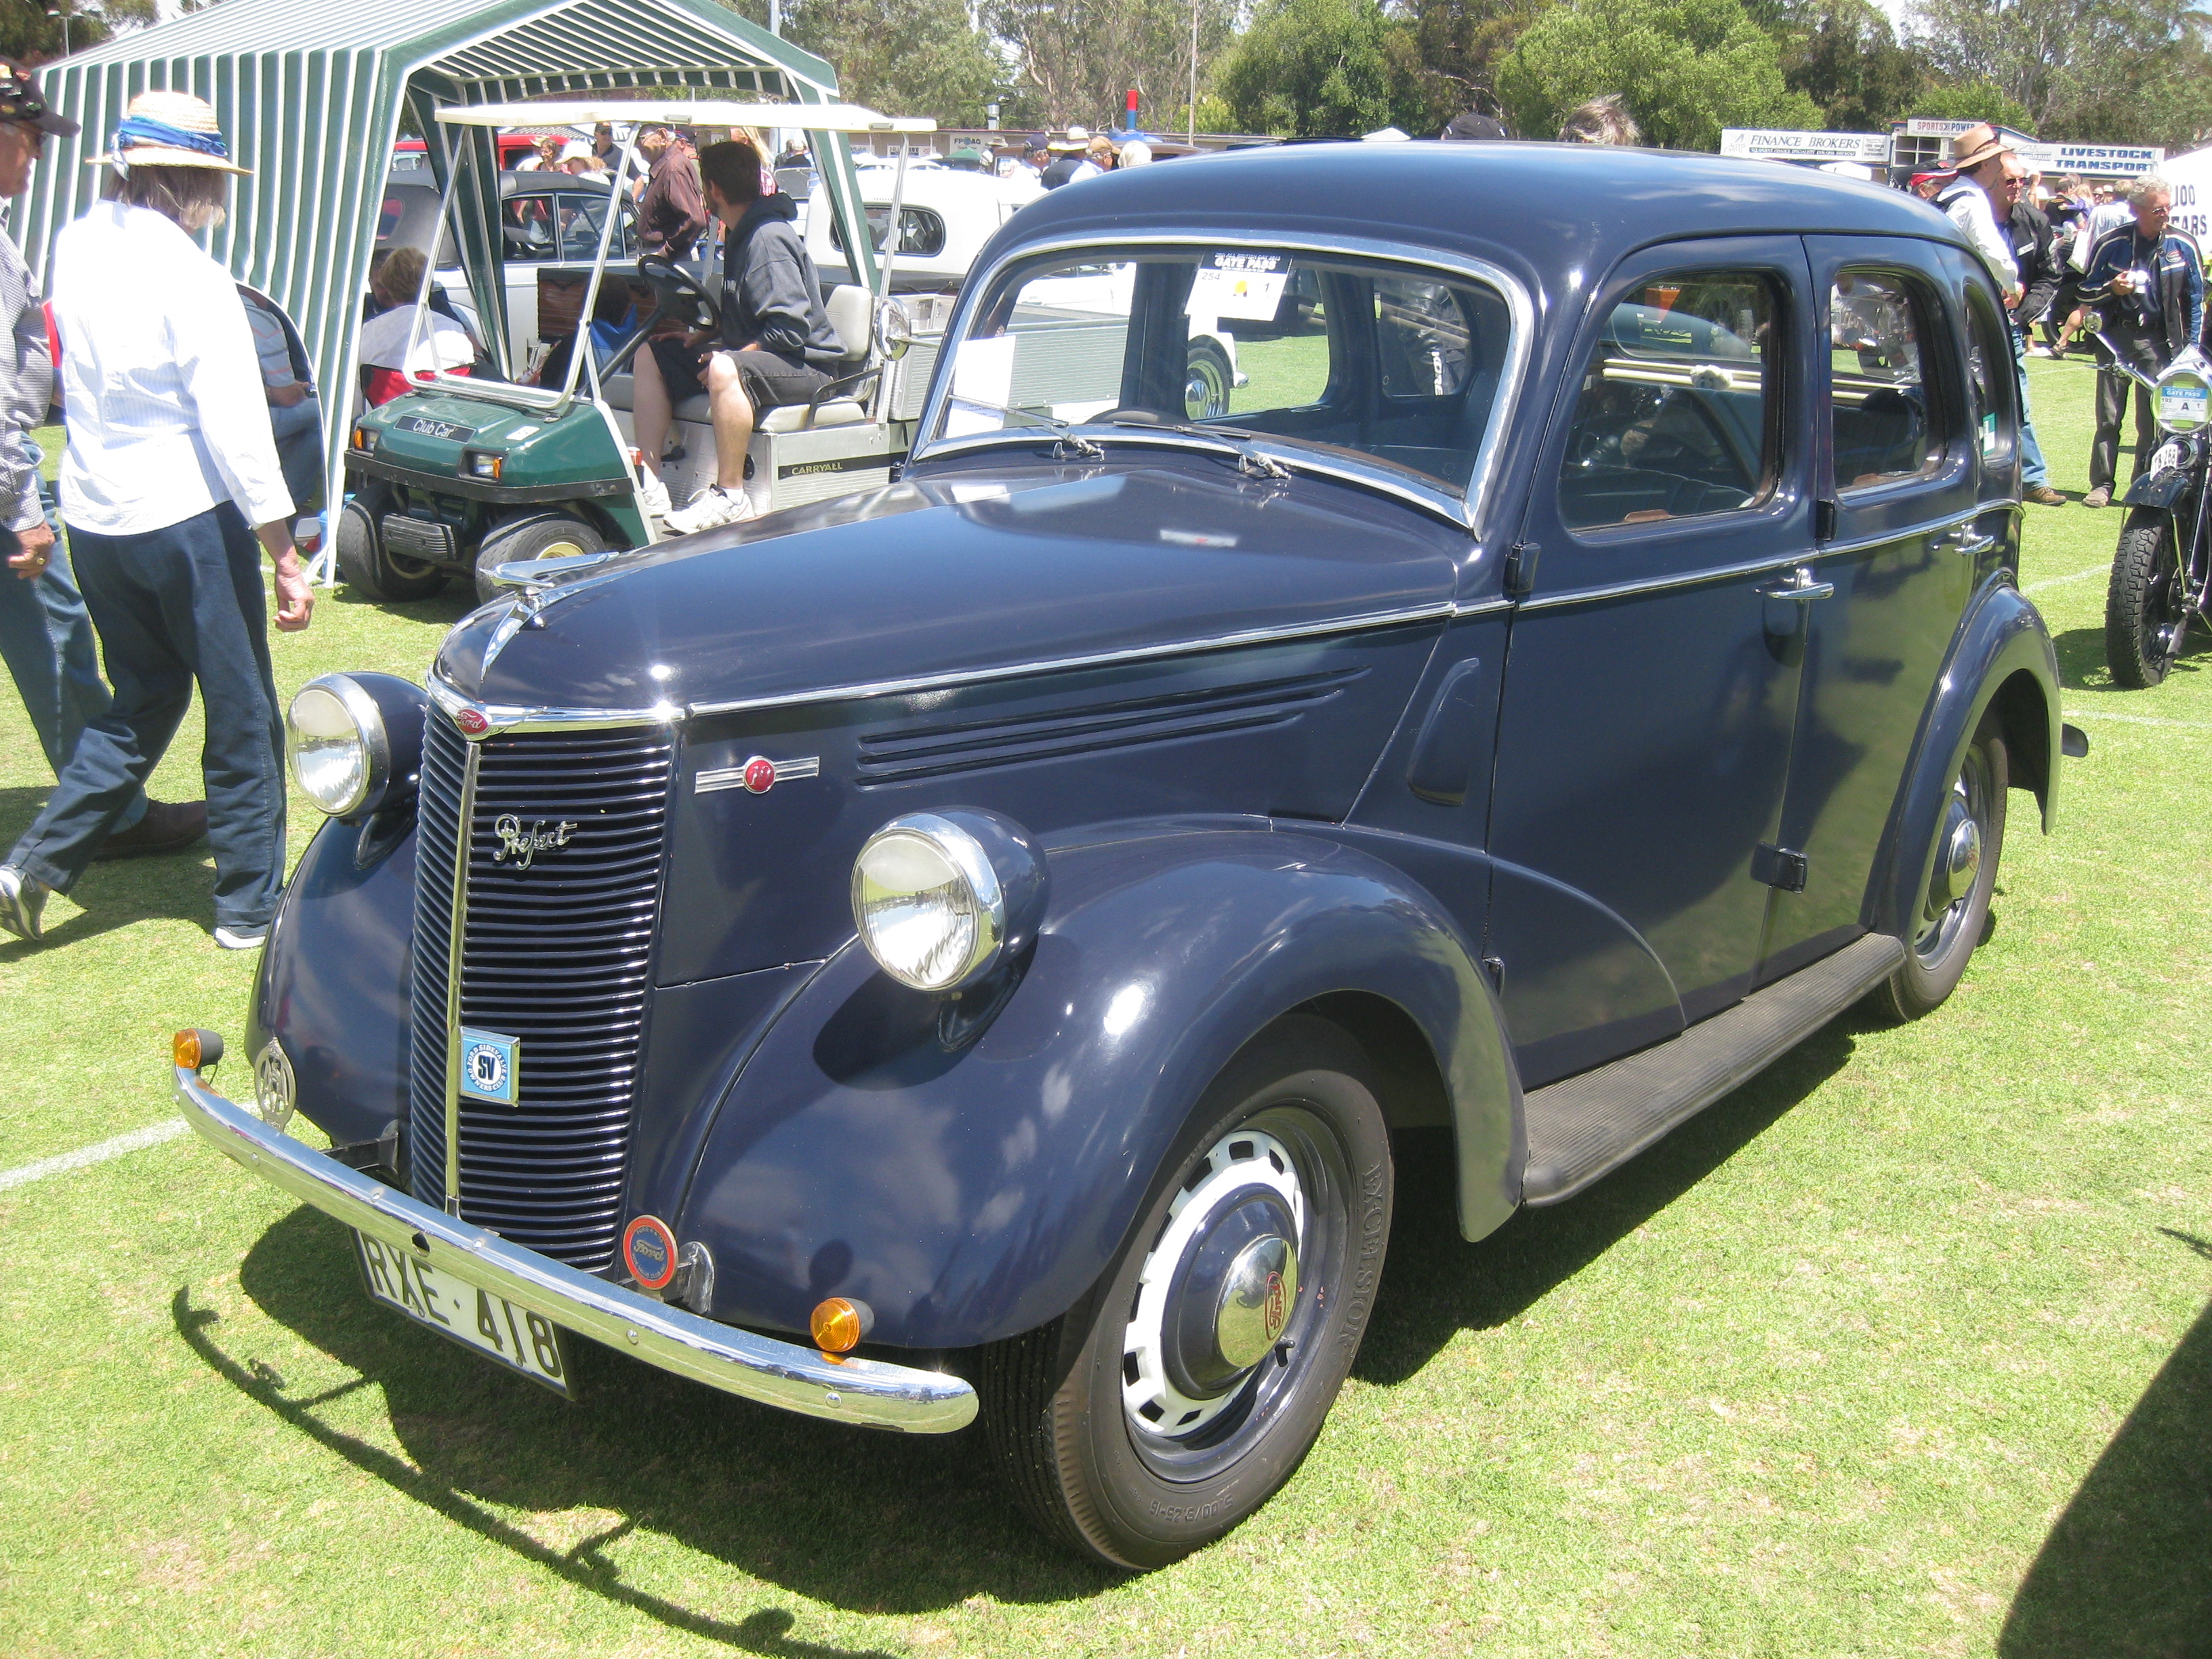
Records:
{"label": "white slotted wheel disc with blue centre, navy car's front wheel", "polygon": [[1298,1307],[1305,1208],[1274,1135],[1241,1128],[1206,1152],[1137,1276],[1121,1336],[1130,1427],[1194,1436],[1272,1363]]}

